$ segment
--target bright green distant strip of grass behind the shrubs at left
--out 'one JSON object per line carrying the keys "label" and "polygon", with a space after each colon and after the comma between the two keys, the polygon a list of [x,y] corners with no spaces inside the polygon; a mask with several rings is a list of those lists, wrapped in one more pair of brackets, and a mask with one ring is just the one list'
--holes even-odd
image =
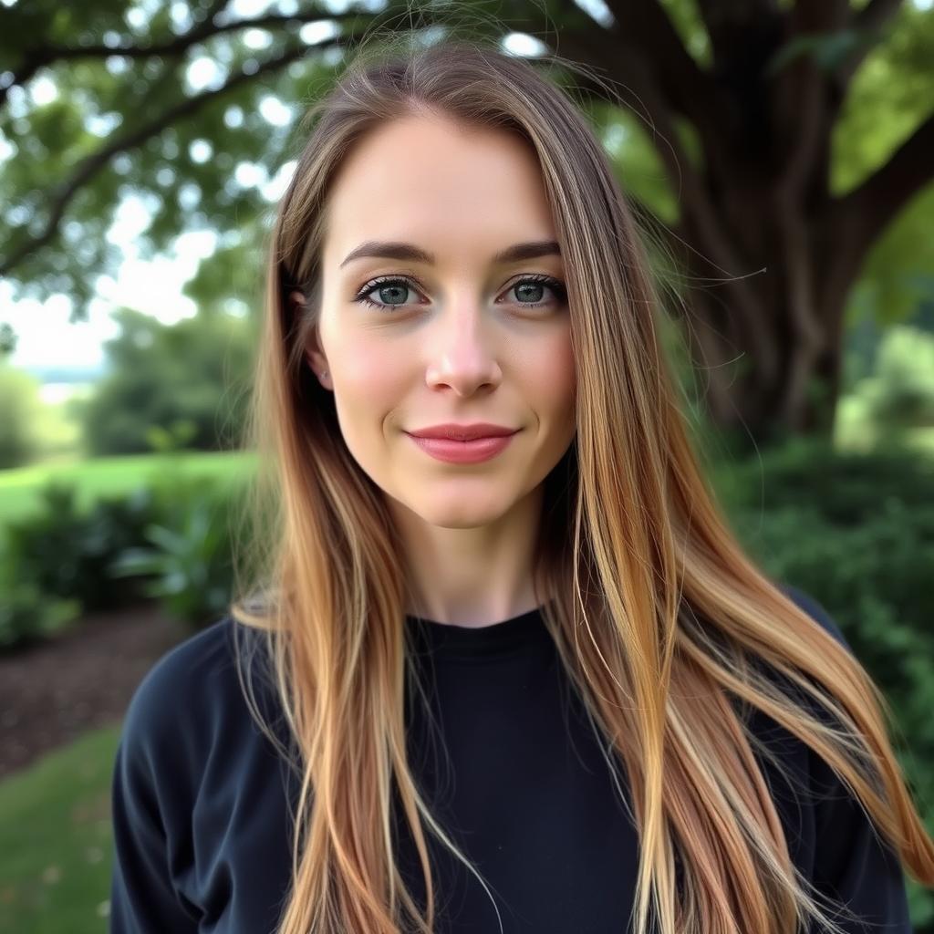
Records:
{"label": "bright green distant strip of grass behind the shrubs at left", "polygon": [[[186,472],[211,474],[221,479],[242,475],[254,458],[251,453],[239,451],[198,451],[169,456],[173,464],[181,464]],[[165,463],[165,455],[139,454],[42,463],[0,471],[0,524],[34,512],[42,486],[51,479],[76,484],[78,503],[85,508],[101,496],[129,492],[143,485],[149,475],[162,470]]]}

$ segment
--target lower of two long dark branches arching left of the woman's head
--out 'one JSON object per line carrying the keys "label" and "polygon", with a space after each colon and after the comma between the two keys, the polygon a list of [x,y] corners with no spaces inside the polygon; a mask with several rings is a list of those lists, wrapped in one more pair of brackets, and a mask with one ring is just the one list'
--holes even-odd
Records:
{"label": "lower of two long dark branches arching left of the woman's head", "polygon": [[[345,42],[346,41],[345,39]],[[27,256],[50,242],[55,234],[58,233],[58,227],[64,216],[65,208],[74,199],[81,186],[97,175],[115,155],[129,149],[136,149],[152,136],[162,133],[166,127],[171,126],[176,120],[191,117],[192,114],[197,113],[204,106],[217,100],[222,95],[233,91],[242,84],[253,81],[267,72],[275,72],[291,62],[302,58],[304,55],[308,54],[309,51],[318,51],[328,46],[339,45],[340,43],[341,37],[334,36],[331,39],[318,43],[310,49],[303,46],[283,52],[283,54],[276,58],[263,62],[258,68],[249,73],[240,72],[219,88],[194,94],[176,106],[169,107],[154,120],[149,120],[130,133],[123,134],[102,149],[93,153],[78,165],[78,169],[71,177],[67,178],[59,185],[51,199],[49,219],[46,221],[42,233],[39,233],[35,237],[27,238],[19,248],[13,249],[7,257],[0,258],[0,276],[8,275],[10,270],[22,262]]]}

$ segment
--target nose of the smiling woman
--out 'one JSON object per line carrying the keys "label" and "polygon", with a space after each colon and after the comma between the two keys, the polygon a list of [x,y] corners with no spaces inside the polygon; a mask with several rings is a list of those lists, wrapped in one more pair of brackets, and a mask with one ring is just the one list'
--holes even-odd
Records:
{"label": "nose of the smiling woman", "polygon": [[426,382],[432,389],[449,387],[461,396],[497,386],[502,371],[494,349],[482,310],[468,300],[438,319]]}

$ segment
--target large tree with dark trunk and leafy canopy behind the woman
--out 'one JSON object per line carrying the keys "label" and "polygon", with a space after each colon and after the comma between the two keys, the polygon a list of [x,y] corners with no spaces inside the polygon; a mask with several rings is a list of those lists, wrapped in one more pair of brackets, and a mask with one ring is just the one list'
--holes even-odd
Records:
{"label": "large tree with dark trunk and leafy canopy behind the woman", "polygon": [[[268,205],[240,163],[272,175],[296,153],[293,102],[327,88],[367,25],[445,28],[452,9],[229,6],[32,0],[0,12],[0,128],[27,157],[0,179],[0,273],[21,294],[86,303],[89,273],[116,262],[105,233],[131,178],[155,210],[144,247],[199,224],[225,234],[191,285],[199,301],[217,297],[219,262],[258,271],[257,240],[239,232],[262,231]],[[934,13],[908,0],[484,0],[455,16],[468,7],[474,32],[533,35],[587,66],[595,77],[570,83],[595,120],[621,106],[646,128],[668,191],[628,193],[686,271],[683,319],[715,421],[754,441],[831,431],[847,296],[934,178]],[[42,78],[74,90],[52,98]],[[870,156],[880,126],[894,138]],[[249,262],[234,262],[244,249]]]}

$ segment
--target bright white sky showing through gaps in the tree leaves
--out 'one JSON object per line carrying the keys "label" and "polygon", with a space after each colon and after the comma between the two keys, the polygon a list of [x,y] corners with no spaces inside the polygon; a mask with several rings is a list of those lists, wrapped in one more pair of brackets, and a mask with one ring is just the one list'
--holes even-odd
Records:
{"label": "bright white sky showing through gaps in the tree leaves", "polygon": [[[145,9],[153,2],[160,0],[141,0],[140,7]],[[595,19],[606,14],[602,0],[576,2]],[[913,0],[913,3],[915,7],[927,9],[934,4],[934,0]],[[9,6],[10,0],[0,0],[0,4]],[[276,4],[270,3],[270,0],[233,0],[230,11],[237,17],[247,17],[270,7],[287,11],[294,6],[294,0],[279,0]],[[336,11],[346,4],[332,0],[328,6]],[[186,8],[184,4],[173,4],[173,15],[183,16]],[[142,11],[140,15],[145,17]],[[184,23],[180,22],[179,25],[183,26]],[[324,24],[308,23],[300,34],[304,41],[319,41],[321,36],[312,34],[321,25]],[[253,35],[245,35],[245,39],[255,44],[257,49],[262,49],[271,41],[269,34],[261,30],[249,30],[248,34]],[[510,35],[505,44],[520,54],[529,54],[538,46],[531,37],[520,34]],[[191,91],[208,86],[215,78],[214,71],[210,59],[195,59],[186,75]],[[52,82],[40,76],[31,82],[29,98],[25,98],[24,104],[28,106],[30,98],[35,103],[42,103],[43,97],[49,100],[56,93]],[[10,96],[13,97],[12,93]],[[263,103],[267,107],[264,116],[269,122],[282,125],[293,119],[289,108],[275,98],[269,97]],[[4,155],[3,143],[0,136],[0,163]],[[263,196],[272,202],[285,191],[294,167],[295,163],[286,163],[275,177],[269,178],[264,170],[257,174],[258,166],[241,163],[238,173],[245,183],[257,184]],[[250,182],[248,179],[251,173]],[[0,280],[0,321],[11,324],[17,334],[17,347],[11,358],[14,365],[30,368],[100,366],[105,359],[104,342],[118,333],[111,312],[121,305],[153,315],[167,324],[195,314],[195,305],[182,294],[182,287],[195,274],[198,262],[211,254],[217,236],[212,231],[183,233],[174,245],[174,255],[162,255],[145,261],[139,258],[134,248],[134,238],[145,230],[148,219],[148,209],[139,198],[131,196],[120,204],[107,239],[120,245],[123,262],[116,278],[101,276],[97,280],[96,297],[92,300],[85,321],[69,322],[71,305],[64,295],[53,295],[45,302],[21,300],[14,303],[9,283]]]}

